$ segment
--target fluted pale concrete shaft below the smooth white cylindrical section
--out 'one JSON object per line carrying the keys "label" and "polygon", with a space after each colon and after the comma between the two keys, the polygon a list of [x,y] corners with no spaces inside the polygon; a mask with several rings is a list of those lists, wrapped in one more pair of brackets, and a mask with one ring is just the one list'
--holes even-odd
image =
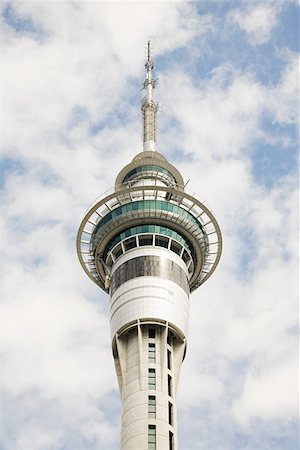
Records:
{"label": "fluted pale concrete shaft below the smooth white cylindrical section", "polygon": [[[178,449],[176,391],[184,350],[185,339],[176,337],[167,323],[137,321],[114,341],[122,399],[121,450],[169,450],[170,439]],[[155,431],[152,447],[149,426]]]}

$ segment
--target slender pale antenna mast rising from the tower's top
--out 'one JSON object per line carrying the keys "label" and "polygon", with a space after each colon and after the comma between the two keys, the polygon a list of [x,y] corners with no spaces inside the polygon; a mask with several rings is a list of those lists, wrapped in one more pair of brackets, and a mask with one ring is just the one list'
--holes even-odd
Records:
{"label": "slender pale antenna mast rising from the tower's top", "polygon": [[154,62],[151,56],[151,44],[147,43],[147,61],[145,64],[146,79],[143,88],[146,90],[146,96],[142,100],[143,113],[143,147],[144,151],[156,151],[156,113],[158,109],[157,103],[153,101],[153,89],[156,80],[152,77],[152,69]]}

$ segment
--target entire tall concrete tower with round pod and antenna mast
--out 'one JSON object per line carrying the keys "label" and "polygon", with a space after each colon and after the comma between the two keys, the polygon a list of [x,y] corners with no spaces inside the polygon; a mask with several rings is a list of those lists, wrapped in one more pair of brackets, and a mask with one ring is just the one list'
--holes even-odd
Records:
{"label": "entire tall concrete tower with round pod and antenna mast", "polygon": [[176,391],[189,296],[211,276],[222,250],[213,214],[156,150],[153,66],[148,42],[143,151],[89,209],[77,236],[83,269],[109,294],[121,450],[178,449]]}

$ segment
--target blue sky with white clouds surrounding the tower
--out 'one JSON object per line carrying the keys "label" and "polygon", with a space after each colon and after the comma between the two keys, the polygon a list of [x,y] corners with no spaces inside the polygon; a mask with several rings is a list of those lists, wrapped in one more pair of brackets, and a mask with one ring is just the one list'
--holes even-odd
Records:
{"label": "blue sky with white clouds surrounding the tower", "polygon": [[1,450],[118,450],[108,299],[75,238],[142,150],[145,42],[158,150],[224,238],[191,296],[180,450],[297,436],[296,0],[2,2]]}

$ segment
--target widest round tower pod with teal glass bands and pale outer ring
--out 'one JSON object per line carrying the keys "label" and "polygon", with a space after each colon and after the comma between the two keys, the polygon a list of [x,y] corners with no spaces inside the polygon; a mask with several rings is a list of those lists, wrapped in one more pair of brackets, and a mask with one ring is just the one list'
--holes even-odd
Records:
{"label": "widest round tower pod with teal glass bands and pale outer ring", "polygon": [[[126,187],[97,199],[77,235],[80,263],[105,291],[105,278],[118,257],[116,248],[119,245],[119,254],[130,250],[125,240],[129,236],[134,247],[167,245],[180,254],[189,267],[191,291],[210,277],[221,257],[218,223],[194,195],[167,186]],[[148,237],[148,244],[142,244],[141,236]]]}

